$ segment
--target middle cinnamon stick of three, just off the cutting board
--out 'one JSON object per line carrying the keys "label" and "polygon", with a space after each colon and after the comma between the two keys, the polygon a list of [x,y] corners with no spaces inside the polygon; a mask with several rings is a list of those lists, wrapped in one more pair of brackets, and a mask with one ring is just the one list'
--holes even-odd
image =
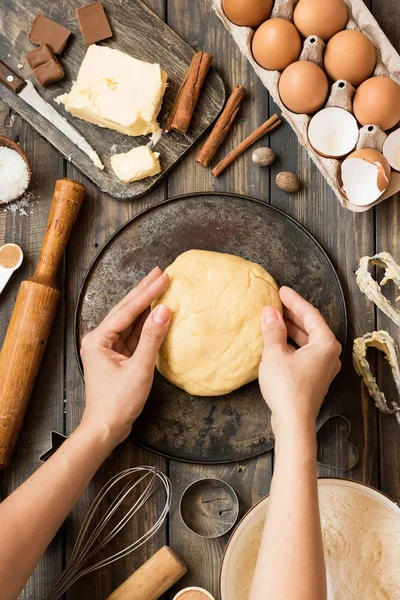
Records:
{"label": "middle cinnamon stick of three, just off the cutting board", "polygon": [[225,108],[218,121],[215,123],[213,130],[208,136],[207,141],[197,155],[196,162],[203,167],[208,167],[218,148],[228,135],[245,95],[246,90],[244,87],[242,85],[236,85],[232,94],[229,96],[228,102],[225,104]]}

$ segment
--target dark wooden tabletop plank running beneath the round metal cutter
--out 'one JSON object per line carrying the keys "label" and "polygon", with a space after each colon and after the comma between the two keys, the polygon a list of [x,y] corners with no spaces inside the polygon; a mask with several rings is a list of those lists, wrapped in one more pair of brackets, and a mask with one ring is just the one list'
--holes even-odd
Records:
{"label": "dark wooden tabletop plank running beneath the round metal cutter", "polygon": [[[211,8],[210,0],[196,4],[196,23],[193,29],[190,0],[168,2],[168,23],[196,49],[213,54],[215,66],[222,74],[228,94],[236,83],[246,88],[248,95],[240,111],[240,119],[214,158],[216,164],[228,151],[249,135],[269,116],[268,94],[249,69],[228,32]],[[257,146],[268,145],[268,138]],[[188,154],[168,178],[170,197],[193,191],[229,191],[268,200],[269,173],[251,162],[251,150],[236,161],[218,179],[210,169],[195,162],[201,142]],[[239,250],[238,250],[239,252]],[[230,483],[240,498],[241,514],[264,496],[270,487],[272,454],[267,453],[243,465],[191,465],[170,461],[170,477],[174,484],[173,506],[170,515],[170,545],[181,554],[189,566],[188,574],[171,590],[170,598],[185,585],[200,585],[218,594],[218,573],[225,543],[229,536],[217,540],[202,540],[188,531],[179,515],[179,501],[184,489],[196,479],[217,477]]]}

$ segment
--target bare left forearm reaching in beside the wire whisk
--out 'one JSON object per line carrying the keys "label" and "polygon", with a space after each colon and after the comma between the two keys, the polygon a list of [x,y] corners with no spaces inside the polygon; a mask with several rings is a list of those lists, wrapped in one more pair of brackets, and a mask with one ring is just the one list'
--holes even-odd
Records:
{"label": "bare left forearm reaching in beside the wire whisk", "polygon": [[80,425],[54,456],[0,505],[1,537],[7,539],[7,544],[0,544],[3,600],[18,597],[60,525],[111,450],[108,432]]}

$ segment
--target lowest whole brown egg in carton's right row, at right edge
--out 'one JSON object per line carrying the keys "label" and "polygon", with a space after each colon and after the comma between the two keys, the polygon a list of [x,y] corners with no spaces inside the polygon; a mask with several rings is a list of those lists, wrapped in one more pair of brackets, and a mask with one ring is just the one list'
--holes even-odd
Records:
{"label": "lowest whole brown egg in carton's right row, at right edge", "polygon": [[371,77],[358,88],[353,109],[361,125],[391,129],[400,121],[400,86],[388,77]]}

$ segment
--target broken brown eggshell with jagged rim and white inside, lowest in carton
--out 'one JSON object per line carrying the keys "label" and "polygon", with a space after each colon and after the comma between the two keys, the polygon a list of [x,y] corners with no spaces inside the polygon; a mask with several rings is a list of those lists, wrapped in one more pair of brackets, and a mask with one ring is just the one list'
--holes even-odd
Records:
{"label": "broken brown eggshell with jagged rim and white inside, lowest in carton", "polygon": [[370,148],[357,150],[342,163],[342,192],[352,204],[367,206],[387,190],[390,174],[383,154]]}

